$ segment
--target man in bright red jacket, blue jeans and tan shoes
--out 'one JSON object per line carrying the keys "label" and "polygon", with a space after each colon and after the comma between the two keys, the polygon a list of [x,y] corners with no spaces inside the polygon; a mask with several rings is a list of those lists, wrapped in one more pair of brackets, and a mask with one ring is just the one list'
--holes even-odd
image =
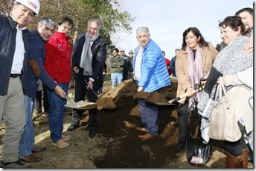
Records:
{"label": "man in bright red jacket, blue jeans and tan shoes", "polygon": [[[71,51],[72,45],[68,42],[71,39],[68,34],[73,27],[73,21],[68,17],[63,17],[58,23],[58,28],[45,43],[45,70],[48,75],[63,88],[68,94],[68,85],[71,82]],[[63,118],[65,115],[65,98],[60,98],[53,90],[47,90],[49,109],[49,130],[51,141],[59,148],[68,147],[71,136],[63,135]]]}

